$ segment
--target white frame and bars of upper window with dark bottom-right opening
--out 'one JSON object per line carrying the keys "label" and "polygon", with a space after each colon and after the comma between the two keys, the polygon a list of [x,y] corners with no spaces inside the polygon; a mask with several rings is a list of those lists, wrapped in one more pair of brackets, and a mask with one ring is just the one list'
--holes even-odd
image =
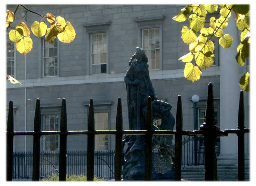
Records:
{"label": "white frame and bars of upper window with dark bottom-right opening", "polygon": [[[92,53],[92,35],[103,34],[103,33],[106,34],[106,45],[107,45],[106,52]],[[95,54],[106,54],[106,62],[105,63],[92,64],[92,56],[95,55]],[[106,64],[106,73],[98,73],[98,74],[108,74],[108,33],[107,33],[107,31],[90,33],[90,74],[93,74],[92,73],[92,66],[93,65],[104,65],[104,64]]]}

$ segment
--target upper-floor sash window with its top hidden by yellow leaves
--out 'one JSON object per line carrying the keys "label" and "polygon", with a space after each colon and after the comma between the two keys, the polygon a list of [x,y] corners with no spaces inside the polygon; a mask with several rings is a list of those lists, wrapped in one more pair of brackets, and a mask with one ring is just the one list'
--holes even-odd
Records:
{"label": "upper-floor sash window with its top hidden by yellow leaves", "polygon": [[58,76],[58,39],[43,40],[43,76]]}

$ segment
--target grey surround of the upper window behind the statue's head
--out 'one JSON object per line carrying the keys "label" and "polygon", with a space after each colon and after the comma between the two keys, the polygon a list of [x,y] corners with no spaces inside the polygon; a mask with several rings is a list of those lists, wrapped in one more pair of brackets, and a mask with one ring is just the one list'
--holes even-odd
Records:
{"label": "grey surround of the upper window behind the statue's head", "polygon": [[143,26],[139,26],[139,41],[138,43],[140,44],[141,48],[143,49],[143,35],[142,35],[142,30],[143,29],[152,29],[152,28],[159,28],[159,69],[149,69],[149,71],[155,71],[155,70],[163,70],[163,62],[162,62],[162,56],[163,56],[163,47],[162,47],[162,25],[156,25],[156,24],[152,24],[152,25],[143,25]]}

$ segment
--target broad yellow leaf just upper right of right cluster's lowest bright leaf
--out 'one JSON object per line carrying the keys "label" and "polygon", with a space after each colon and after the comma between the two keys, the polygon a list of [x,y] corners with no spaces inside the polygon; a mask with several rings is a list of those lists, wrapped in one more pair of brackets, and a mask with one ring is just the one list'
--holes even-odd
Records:
{"label": "broad yellow leaf just upper right of right cluster's lowest bright leaf", "polygon": [[203,54],[202,52],[197,52],[195,55],[195,62],[197,65],[203,69],[206,69],[213,65],[213,58],[214,55],[212,52],[207,52],[207,54]]}

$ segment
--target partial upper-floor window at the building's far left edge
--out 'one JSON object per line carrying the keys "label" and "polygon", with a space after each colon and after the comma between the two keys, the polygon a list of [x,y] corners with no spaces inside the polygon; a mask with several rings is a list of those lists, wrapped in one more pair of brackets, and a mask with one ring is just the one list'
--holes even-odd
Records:
{"label": "partial upper-floor window at the building's far left edge", "polygon": [[6,43],[6,73],[12,77],[14,77],[14,43],[13,42],[7,42]]}

